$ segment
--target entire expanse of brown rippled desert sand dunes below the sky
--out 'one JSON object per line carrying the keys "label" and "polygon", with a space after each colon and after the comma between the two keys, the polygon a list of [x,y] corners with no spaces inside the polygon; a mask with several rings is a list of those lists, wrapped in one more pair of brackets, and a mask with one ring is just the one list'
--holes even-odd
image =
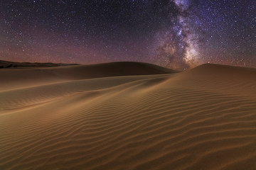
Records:
{"label": "entire expanse of brown rippled desert sand dunes below the sky", "polygon": [[0,169],[256,169],[256,69],[7,66]]}

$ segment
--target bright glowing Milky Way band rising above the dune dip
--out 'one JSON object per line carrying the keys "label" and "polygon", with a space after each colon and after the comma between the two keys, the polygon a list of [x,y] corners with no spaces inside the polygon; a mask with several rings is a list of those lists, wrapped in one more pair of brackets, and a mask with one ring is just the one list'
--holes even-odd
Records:
{"label": "bright glowing Milky Way band rising above the dune dip", "polygon": [[188,17],[191,4],[188,0],[176,0],[174,4],[178,15],[171,16],[171,26],[156,34],[157,60],[161,65],[174,69],[195,67],[202,62],[198,52],[199,36],[193,30],[193,20]]}

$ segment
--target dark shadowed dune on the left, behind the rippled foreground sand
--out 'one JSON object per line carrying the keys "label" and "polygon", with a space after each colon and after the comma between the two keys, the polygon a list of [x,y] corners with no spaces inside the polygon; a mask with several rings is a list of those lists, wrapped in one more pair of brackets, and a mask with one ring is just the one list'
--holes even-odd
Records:
{"label": "dark shadowed dune on the left, behind the rippled foreground sand", "polygon": [[[17,65],[21,65],[21,63],[17,63]],[[4,89],[17,89],[23,86],[53,84],[60,81],[176,73],[176,71],[171,69],[142,62],[65,65],[65,67],[60,67],[60,64],[56,64],[58,65],[57,67],[46,66],[46,63],[38,65],[42,67],[31,63],[27,67],[0,69],[0,79],[4,80],[4,83],[0,84],[0,91]]]}

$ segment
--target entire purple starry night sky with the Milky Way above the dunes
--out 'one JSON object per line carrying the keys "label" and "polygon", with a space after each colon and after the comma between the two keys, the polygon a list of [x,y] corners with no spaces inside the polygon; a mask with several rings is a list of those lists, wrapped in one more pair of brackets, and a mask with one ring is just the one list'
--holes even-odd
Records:
{"label": "entire purple starry night sky with the Milky Way above the dunes", "polygon": [[1,0],[0,60],[256,67],[256,0]]}

